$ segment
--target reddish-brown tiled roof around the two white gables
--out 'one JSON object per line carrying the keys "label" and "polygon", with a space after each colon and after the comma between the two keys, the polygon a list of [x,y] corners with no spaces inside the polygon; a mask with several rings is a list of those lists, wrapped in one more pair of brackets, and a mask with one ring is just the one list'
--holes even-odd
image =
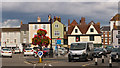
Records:
{"label": "reddish-brown tiled roof around the two white gables", "polygon": [[81,31],[82,34],[86,34],[86,32],[88,31],[89,27],[93,25],[94,28],[97,30],[98,33],[101,33],[100,31],[100,25],[98,23],[94,23],[93,21],[91,21],[88,24],[77,24],[77,22],[74,20],[69,26],[68,26],[68,35],[70,35],[73,31],[73,29],[75,28],[75,26],[77,26],[79,28],[79,30]]}

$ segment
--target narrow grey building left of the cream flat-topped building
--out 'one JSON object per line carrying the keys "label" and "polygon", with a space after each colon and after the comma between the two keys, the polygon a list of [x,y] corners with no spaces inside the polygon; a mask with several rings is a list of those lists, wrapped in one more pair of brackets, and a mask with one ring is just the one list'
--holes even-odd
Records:
{"label": "narrow grey building left of the cream flat-topped building", "polygon": [[21,28],[20,28],[20,43],[23,45],[23,47],[29,46],[29,25],[28,24],[22,24],[21,21]]}

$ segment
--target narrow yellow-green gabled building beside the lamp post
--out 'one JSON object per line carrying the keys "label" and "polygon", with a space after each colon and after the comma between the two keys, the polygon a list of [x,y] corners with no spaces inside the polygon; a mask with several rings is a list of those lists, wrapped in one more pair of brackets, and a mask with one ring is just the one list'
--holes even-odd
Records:
{"label": "narrow yellow-green gabled building beside the lamp post", "polygon": [[66,32],[66,27],[61,23],[61,18],[54,16],[52,23],[52,45],[56,44],[58,37],[61,38],[61,44],[64,44],[64,32]]}

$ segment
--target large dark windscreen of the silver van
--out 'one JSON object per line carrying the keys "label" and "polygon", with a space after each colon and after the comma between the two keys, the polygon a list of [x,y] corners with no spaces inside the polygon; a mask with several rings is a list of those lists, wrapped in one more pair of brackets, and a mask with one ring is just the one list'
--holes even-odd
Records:
{"label": "large dark windscreen of the silver van", "polygon": [[73,43],[71,44],[70,50],[84,50],[86,43]]}

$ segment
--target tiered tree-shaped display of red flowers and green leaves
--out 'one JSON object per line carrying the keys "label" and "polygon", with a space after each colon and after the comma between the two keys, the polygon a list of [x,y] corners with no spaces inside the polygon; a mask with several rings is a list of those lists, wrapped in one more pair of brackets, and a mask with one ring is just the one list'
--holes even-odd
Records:
{"label": "tiered tree-shaped display of red flowers and green leaves", "polygon": [[47,31],[43,29],[37,30],[37,35],[34,35],[34,38],[32,38],[32,44],[38,45],[40,47],[40,50],[42,50],[42,46],[47,47],[50,44],[50,38],[46,36]]}

